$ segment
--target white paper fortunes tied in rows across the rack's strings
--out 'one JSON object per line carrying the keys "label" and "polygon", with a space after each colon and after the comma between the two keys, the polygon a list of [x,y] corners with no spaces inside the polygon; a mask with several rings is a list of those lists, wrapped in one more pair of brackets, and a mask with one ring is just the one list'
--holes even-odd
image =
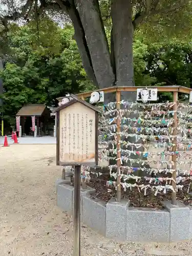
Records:
{"label": "white paper fortunes tied in rows across the rack's strings", "polygon": [[[152,189],[155,191],[155,195],[161,191],[165,194],[168,190],[174,190],[172,182],[176,184],[176,191],[182,190],[183,184],[187,180],[191,181],[192,175],[192,155],[191,155],[191,127],[192,127],[192,106],[184,103],[178,102],[165,102],[165,103],[138,103],[138,102],[118,102],[122,106],[122,110],[116,110],[117,102],[110,102],[108,105],[103,106],[103,116],[99,120],[99,157],[103,160],[120,160],[121,166],[119,168],[120,174],[118,172],[113,173],[112,170],[117,170],[117,165],[109,165],[110,176],[113,179],[120,175],[122,181],[119,185],[126,190],[127,188],[132,189],[137,187],[139,191],[143,190],[146,195],[147,189]],[[178,106],[178,120],[174,119],[173,106],[177,104]],[[149,109],[151,108],[151,111]],[[131,114],[138,114],[138,118],[129,117]],[[114,117],[114,115],[116,115]],[[108,118],[108,116],[112,116]],[[117,118],[120,119],[121,132],[116,133]],[[177,124],[177,131],[180,134],[174,135],[175,128],[173,124]],[[146,134],[148,133],[148,134]],[[120,140],[117,137],[120,136]],[[129,137],[135,138],[135,143],[127,141]],[[138,142],[141,139],[142,142]],[[148,139],[153,140],[153,143],[148,143]],[[177,141],[175,142],[176,139]],[[144,143],[143,143],[144,142]],[[177,144],[175,144],[177,143]],[[120,145],[121,157],[117,157],[117,144]],[[112,148],[111,148],[112,145]],[[177,145],[177,150],[173,151],[173,146]],[[128,147],[132,149],[126,149]],[[125,148],[124,148],[125,147]],[[162,148],[162,152],[151,152],[149,148]],[[138,150],[138,148],[144,148],[144,152]],[[146,150],[145,150],[146,149]],[[178,150],[184,150],[184,152],[178,152]],[[187,152],[185,152],[187,151]],[[107,153],[107,155],[106,155]],[[132,159],[132,155],[136,155],[138,158],[144,156],[146,158],[151,157],[153,159]],[[173,162],[170,158],[176,155],[177,160]],[[154,159],[155,157],[160,159]],[[184,161],[186,160],[186,161]],[[123,166],[123,163],[131,163],[131,166]],[[140,167],[133,167],[135,163],[139,163]],[[146,163],[155,163],[156,168],[146,168]],[[174,169],[174,164],[177,164],[177,168]],[[183,164],[187,168],[180,168],[178,165]],[[133,165],[133,166],[132,166]],[[163,166],[165,165],[165,166]],[[102,169],[102,168],[101,168]],[[148,178],[148,177],[138,177],[134,176],[133,173],[136,170],[142,170],[143,172],[149,174],[173,174],[176,172],[177,179],[173,178]],[[95,174],[97,177],[102,176],[101,172],[90,172],[89,168],[85,167],[83,177],[87,180],[91,179],[90,174]],[[130,175],[131,174],[131,175]],[[180,174],[189,177],[181,177]],[[135,182],[148,182],[147,185],[144,184],[130,184],[126,181],[134,179]],[[164,184],[161,184],[165,182]],[[106,181],[107,185],[113,185],[117,189],[116,181]],[[189,183],[190,185],[190,183]],[[188,185],[188,190],[189,186]]]}

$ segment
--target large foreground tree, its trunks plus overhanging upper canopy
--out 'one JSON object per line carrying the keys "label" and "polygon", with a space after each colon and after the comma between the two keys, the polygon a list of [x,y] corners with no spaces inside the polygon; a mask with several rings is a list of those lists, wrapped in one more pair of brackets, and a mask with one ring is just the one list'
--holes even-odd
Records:
{"label": "large foreground tree, its trunks plus overhanging upper canopy", "polygon": [[[10,20],[54,16],[60,13],[71,20],[74,38],[88,77],[96,87],[133,86],[133,38],[139,27],[161,33],[188,30],[189,0],[2,0],[8,6],[1,23],[8,29]],[[11,4],[10,4],[11,3]],[[55,16],[54,16],[55,17]],[[109,42],[108,36],[111,34]]]}

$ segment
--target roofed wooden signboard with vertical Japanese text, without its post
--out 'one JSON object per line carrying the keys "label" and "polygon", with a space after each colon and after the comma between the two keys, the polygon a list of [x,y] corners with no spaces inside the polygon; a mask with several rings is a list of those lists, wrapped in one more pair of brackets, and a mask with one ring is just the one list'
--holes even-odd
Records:
{"label": "roofed wooden signboard with vertical Japanese text, without its post", "polygon": [[98,164],[98,113],[95,106],[70,95],[57,114],[57,165]]}

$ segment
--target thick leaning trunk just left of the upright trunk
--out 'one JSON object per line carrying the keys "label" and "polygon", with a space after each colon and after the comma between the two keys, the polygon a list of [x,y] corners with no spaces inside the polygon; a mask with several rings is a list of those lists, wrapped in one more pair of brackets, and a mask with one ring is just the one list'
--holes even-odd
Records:
{"label": "thick leaning trunk just left of the upright trunk", "polygon": [[86,35],[93,70],[99,87],[111,87],[114,85],[115,76],[98,0],[77,0],[76,7]]}

